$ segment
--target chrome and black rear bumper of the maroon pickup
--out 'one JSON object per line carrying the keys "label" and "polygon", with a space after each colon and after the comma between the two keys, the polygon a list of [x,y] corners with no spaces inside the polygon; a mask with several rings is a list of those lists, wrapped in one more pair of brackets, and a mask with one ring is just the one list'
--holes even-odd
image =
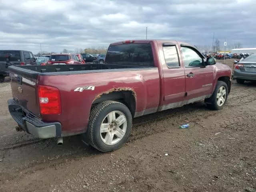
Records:
{"label": "chrome and black rear bumper of the maroon pickup", "polygon": [[42,139],[62,136],[60,122],[43,122],[13,99],[8,100],[8,109],[12,118],[24,131]]}

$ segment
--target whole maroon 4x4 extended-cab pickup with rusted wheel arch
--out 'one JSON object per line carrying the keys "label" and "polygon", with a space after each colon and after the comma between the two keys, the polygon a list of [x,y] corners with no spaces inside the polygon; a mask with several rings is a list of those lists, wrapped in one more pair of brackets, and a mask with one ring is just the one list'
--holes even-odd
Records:
{"label": "whole maroon 4x4 extended-cab pickup with rusted wheel arch", "polygon": [[38,138],[82,134],[102,152],[128,139],[132,118],[204,100],[220,110],[231,69],[183,42],[136,40],[110,44],[105,64],[10,66],[9,111]]}

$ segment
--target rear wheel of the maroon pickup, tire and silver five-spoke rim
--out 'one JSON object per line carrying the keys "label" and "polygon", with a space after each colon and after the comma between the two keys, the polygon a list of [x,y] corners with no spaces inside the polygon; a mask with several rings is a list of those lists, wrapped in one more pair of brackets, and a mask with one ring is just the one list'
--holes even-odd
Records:
{"label": "rear wheel of the maroon pickup, tire and silver five-spoke rim", "polygon": [[101,152],[117,150],[126,143],[130,136],[132,114],[120,102],[104,101],[92,109],[89,130],[90,144],[94,148]]}

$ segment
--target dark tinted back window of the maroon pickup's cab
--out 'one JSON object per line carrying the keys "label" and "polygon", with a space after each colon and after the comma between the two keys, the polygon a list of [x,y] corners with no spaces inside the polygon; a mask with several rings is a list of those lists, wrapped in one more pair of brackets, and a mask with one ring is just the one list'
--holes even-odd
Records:
{"label": "dark tinted back window of the maroon pickup's cab", "polygon": [[112,45],[108,48],[105,63],[132,66],[154,66],[151,44],[134,43]]}

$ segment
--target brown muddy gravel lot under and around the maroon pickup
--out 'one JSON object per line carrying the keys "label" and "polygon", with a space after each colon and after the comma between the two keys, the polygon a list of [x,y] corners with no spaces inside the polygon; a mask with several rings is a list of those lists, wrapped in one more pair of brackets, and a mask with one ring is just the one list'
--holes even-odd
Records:
{"label": "brown muddy gravel lot under and around the maroon pickup", "polygon": [[[223,110],[196,103],[136,118],[127,144],[103,154],[80,136],[57,146],[16,132],[7,79],[0,84],[0,192],[253,192],[256,84],[233,83]],[[179,129],[185,120],[190,128]]]}

